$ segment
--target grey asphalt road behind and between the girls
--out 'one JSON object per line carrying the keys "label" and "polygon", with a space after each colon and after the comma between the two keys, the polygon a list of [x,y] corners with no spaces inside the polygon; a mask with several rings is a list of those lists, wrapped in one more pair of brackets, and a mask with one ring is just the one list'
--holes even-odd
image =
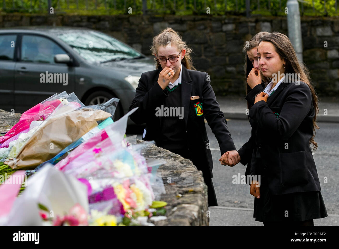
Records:
{"label": "grey asphalt road behind and between the girls", "polygon": [[[235,146],[239,149],[250,137],[251,126],[247,120],[235,119],[227,120],[227,125]],[[339,124],[321,122],[318,126],[320,129],[317,130],[315,138],[318,149],[313,157],[328,217],[317,219],[314,224],[339,225]],[[221,165],[218,161],[220,158],[218,141],[207,123],[206,130],[212,150],[213,184],[218,199],[218,206],[209,208],[210,225],[262,225],[262,222],[256,222],[253,218],[254,196],[250,194],[250,186],[232,183],[232,176],[244,174],[246,167],[240,163],[233,167]],[[141,139],[141,132],[138,139]],[[324,183],[324,177],[327,177],[327,183]]]}

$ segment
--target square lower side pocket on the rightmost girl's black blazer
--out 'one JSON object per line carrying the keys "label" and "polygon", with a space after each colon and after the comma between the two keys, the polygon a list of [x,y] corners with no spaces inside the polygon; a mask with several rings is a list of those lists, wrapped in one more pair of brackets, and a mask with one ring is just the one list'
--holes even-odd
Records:
{"label": "square lower side pocket on the rightmost girl's black blazer", "polygon": [[280,180],[285,187],[308,183],[306,151],[279,153]]}

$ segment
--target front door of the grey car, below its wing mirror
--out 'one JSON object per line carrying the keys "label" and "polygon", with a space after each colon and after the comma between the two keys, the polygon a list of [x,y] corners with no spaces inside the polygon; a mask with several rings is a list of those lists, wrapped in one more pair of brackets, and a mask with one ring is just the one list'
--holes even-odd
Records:
{"label": "front door of the grey car, below its wing mirror", "polygon": [[22,34],[20,60],[15,69],[16,109],[25,111],[55,93],[74,92],[74,67],[55,63],[56,54],[66,51],[49,37]]}

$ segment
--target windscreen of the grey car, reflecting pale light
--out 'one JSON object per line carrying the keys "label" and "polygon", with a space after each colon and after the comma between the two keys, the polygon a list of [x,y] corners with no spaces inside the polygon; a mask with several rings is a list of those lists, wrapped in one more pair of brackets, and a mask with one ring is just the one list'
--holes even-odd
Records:
{"label": "windscreen of the grey car, reflecting pale light", "polygon": [[87,62],[103,63],[108,61],[143,58],[131,47],[111,36],[91,30],[72,30],[56,33],[59,39],[71,46]]}

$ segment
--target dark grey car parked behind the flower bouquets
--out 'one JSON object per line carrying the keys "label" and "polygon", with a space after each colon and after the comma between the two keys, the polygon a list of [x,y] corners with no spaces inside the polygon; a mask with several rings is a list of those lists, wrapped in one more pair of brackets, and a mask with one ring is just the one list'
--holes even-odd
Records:
{"label": "dark grey car parked behind the flower bouquets", "polygon": [[8,111],[22,113],[66,91],[85,105],[119,98],[117,120],[128,111],[142,72],[154,69],[153,60],[95,30],[0,29],[0,108]]}

